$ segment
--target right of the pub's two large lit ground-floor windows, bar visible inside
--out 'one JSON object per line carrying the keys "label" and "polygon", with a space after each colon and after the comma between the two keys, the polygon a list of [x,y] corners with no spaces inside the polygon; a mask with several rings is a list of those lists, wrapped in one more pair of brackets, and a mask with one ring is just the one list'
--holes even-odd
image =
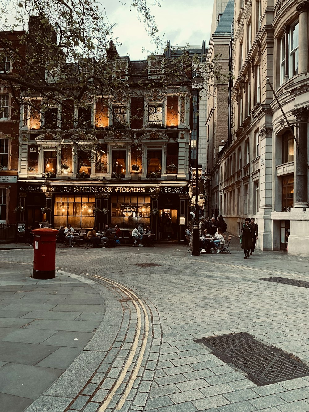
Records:
{"label": "right of the pub's two large lit ground-floor windows, bar visible inside", "polygon": [[111,224],[122,229],[134,229],[135,225],[144,228],[150,225],[150,196],[111,197]]}

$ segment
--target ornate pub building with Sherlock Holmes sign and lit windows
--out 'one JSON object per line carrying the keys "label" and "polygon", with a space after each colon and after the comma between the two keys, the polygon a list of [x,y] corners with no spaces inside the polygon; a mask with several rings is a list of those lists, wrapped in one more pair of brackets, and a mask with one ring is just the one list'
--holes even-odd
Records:
{"label": "ornate pub building with Sherlock Holmes sign and lit windows", "polygon": [[[123,82],[108,95],[96,94],[94,85],[80,106],[66,99],[47,107],[44,119],[25,101],[19,131],[20,220],[38,226],[46,219],[55,228],[117,224],[123,238],[136,224],[149,224],[160,240],[166,212],[171,238],[183,241],[190,215],[191,73],[168,75],[171,81],[162,82],[164,56],[131,61],[113,44],[108,58],[115,68],[122,63],[114,76]],[[31,103],[40,106],[42,98],[35,95]],[[43,215],[43,206],[51,212]]]}

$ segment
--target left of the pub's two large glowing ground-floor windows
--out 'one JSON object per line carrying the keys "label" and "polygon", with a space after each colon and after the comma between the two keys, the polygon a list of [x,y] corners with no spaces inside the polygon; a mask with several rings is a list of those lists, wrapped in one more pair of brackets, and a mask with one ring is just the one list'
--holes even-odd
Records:
{"label": "left of the pub's two large glowing ground-floor windows", "polygon": [[54,206],[54,226],[74,229],[91,229],[94,226],[94,197],[56,196]]}

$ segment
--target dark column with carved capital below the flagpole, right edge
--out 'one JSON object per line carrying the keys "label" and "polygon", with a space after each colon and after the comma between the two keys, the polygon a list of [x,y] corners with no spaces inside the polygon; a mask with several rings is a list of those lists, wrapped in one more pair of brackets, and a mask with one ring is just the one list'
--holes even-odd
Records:
{"label": "dark column with carved capital below the flagpole, right edge", "polygon": [[297,142],[295,150],[294,173],[294,210],[301,208],[305,211],[308,207],[308,115],[309,107],[292,110],[296,118]]}

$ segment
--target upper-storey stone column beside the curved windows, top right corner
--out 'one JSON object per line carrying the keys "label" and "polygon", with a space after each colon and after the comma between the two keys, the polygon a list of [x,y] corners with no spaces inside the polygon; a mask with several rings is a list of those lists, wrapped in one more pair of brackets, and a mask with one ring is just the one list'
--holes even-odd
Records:
{"label": "upper-storey stone column beside the curved windows, top right corner", "polygon": [[299,13],[299,74],[308,73],[308,1],[300,3]]}

